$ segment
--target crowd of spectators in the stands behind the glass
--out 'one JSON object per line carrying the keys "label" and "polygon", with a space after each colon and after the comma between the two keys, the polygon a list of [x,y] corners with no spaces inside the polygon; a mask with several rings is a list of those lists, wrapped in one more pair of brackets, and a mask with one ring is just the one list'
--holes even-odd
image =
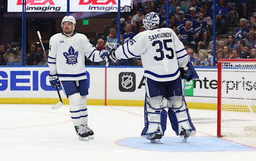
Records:
{"label": "crowd of spectators in the stands behind the glass", "polygon": [[[149,12],[157,12],[160,27],[172,28],[180,38],[195,66],[215,66],[220,58],[256,58],[256,1],[216,0],[216,16],[213,20],[213,0],[169,0],[169,13],[166,0],[134,1],[130,13],[120,19],[120,43],[124,44],[139,32],[144,31],[142,19]],[[248,12],[250,11],[254,12]],[[169,20],[166,20],[166,15]],[[95,43],[97,50],[105,49],[107,43],[117,43],[117,19],[97,32]],[[215,61],[213,61],[213,21],[216,22]],[[231,29],[231,33],[228,31]],[[220,37],[222,35],[222,37]],[[224,37],[223,37],[224,35]],[[97,42],[97,43],[96,43]],[[19,62],[19,54],[6,59],[3,46],[0,45],[0,64],[10,61]],[[9,52],[9,55],[12,53]],[[43,62],[42,62],[43,61]],[[214,64],[215,62],[215,64]],[[44,65],[42,48],[31,45],[26,55],[27,65]],[[86,59],[86,65],[105,65],[105,61],[92,63]],[[110,65],[118,65],[111,62]],[[120,60],[119,65],[142,65],[140,60]]]}

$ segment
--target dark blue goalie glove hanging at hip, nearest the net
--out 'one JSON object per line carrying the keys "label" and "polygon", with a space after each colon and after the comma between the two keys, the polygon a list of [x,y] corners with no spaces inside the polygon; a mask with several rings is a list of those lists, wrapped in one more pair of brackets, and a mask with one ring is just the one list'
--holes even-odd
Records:
{"label": "dark blue goalie glove hanging at hip, nearest the net", "polygon": [[199,78],[190,60],[185,67],[180,67],[180,76],[182,79],[186,79],[186,81]]}

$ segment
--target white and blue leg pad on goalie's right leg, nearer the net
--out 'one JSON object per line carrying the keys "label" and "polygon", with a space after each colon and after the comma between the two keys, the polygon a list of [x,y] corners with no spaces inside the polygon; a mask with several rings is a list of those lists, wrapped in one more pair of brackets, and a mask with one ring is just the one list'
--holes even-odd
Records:
{"label": "white and blue leg pad on goalie's right leg, nearer the net", "polygon": [[[182,96],[180,96],[182,97]],[[170,97],[169,97],[170,98]],[[169,101],[169,98],[168,98],[168,101]],[[174,101],[175,99],[171,99],[173,101],[174,104],[172,105],[180,105],[179,101],[182,100],[182,104],[180,107],[177,107],[177,106],[171,106],[171,103],[167,103],[167,106],[169,108],[168,110],[168,116],[169,116],[169,119],[170,119],[170,122],[172,124],[172,129],[175,131],[175,133],[177,135],[180,135],[181,131],[183,129],[185,130],[196,130],[195,129],[195,126],[193,125],[193,123],[191,122],[191,118],[190,118],[190,115],[189,115],[189,112],[188,112],[188,108],[186,106],[186,103],[185,101],[183,101],[183,99],[180,99],[178,97],[176,97],[176,101]]]}

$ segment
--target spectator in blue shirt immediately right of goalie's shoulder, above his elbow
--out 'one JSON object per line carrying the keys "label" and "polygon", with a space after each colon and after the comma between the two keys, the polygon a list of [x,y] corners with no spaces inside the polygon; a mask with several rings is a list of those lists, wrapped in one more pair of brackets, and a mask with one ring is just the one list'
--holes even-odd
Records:
{"label": "spectator in blue shirt immediately right of goalie's shoulder, above his elbow", "polygon": [[182,43],[188,42],[190,47],[195,48],[195,32],[191,28],[191,25],[192,23],[190,21],[186,21],[185,27],[181,28],[178,33]]}

